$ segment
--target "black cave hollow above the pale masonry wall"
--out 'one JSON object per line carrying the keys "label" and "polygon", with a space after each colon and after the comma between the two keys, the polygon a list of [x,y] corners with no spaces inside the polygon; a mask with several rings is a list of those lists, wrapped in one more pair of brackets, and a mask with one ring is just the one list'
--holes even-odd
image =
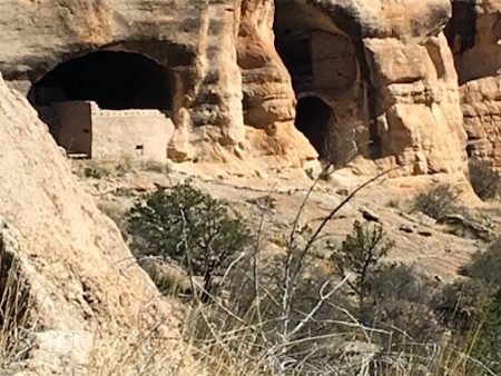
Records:
{"label": "black cave hollow above the pale masonry wall", "polygon": [[132,52],[98,51],[61,62],[36,82],[28,98],[36,108],[92,100],[102,109],[171,110],[174,73]]}

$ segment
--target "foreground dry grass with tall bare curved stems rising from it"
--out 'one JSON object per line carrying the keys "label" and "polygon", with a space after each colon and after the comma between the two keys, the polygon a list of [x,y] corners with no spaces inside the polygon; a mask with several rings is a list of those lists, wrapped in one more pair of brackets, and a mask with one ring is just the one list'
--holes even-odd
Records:
{"label": "foreground dry grass with tall bare curved stems rising from it", "polygon": [[[186,315],[184,338],[193,344],[195,357],[210,375],[495,375],[471,356],[477,343],[475,333],[458,344],[454,336],[444,332],[435,337],[439,339],[424,344],[409,336],[405,329],[381,329],[381,326],[374,328],[358,321],[350,309],[330,299],[348,283],[348,276],[337,283],[324,280],[313,287],[315,290],[308,294],[316,298],[306,310],[298,310],[293,304],[304,298],[299,296],[297,283],[305,273],[306,257],[313,251],[325,224],[358,190],[377,178],[350,194],[312,231],[306,245],[297,249],[295,237],[304,205],[299,208],[283,269],[277,270],[278,275],[285,276],[278,290],[271,291],[269,284],[263,284],[263,279],[259,281],[263,270],[257,257],[261,247],[256,244],[254,260],[238,277],[239,283],[247,278],[252,287],[236,295],[237,301],[226,304],[213,297],[210,305],[191,303]],[[245,303],[238,300],[245,300],[248,295],[254,298],[242,311],[239,307]],[[269,310],[271,307],[275,309]],[[269,311],[276,314],[269,315]]]}

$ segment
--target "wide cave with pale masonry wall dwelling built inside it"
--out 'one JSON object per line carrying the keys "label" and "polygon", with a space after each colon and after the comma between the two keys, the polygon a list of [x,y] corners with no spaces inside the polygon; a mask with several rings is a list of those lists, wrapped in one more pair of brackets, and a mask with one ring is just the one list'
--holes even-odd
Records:
{"label": "wide cave with pale masonry wall dwelling built inside it", "polygon": [[61,62],[28,98],[69,156],[164,160],[175,77],[139,53],[99,51]]}

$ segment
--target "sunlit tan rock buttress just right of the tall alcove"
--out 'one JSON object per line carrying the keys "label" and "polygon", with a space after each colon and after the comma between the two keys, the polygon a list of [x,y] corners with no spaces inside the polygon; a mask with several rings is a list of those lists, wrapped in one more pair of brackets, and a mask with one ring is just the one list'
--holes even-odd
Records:
{"label": "sunlit tan rock buttress just right of the tall alcove", "polygon": [[420,40],[367,39],[383,158],[407,174],[464,168],[465,135],[452,57],[442,33]]}

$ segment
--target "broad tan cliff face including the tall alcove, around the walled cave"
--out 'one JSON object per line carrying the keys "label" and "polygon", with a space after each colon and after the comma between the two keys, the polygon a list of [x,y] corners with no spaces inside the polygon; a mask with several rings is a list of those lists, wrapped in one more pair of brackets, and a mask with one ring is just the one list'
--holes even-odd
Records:
{"label": "broad tan cliff face including the tall alcove, around the walled cave", "polygon": [[175,161],[302,166],[320,154],[338,166],[364,157],[405,174],[459,171],[450,13],[449,0],[9,0],[0,71],[27,93],[92,51],[153,59],[174,76]]}

